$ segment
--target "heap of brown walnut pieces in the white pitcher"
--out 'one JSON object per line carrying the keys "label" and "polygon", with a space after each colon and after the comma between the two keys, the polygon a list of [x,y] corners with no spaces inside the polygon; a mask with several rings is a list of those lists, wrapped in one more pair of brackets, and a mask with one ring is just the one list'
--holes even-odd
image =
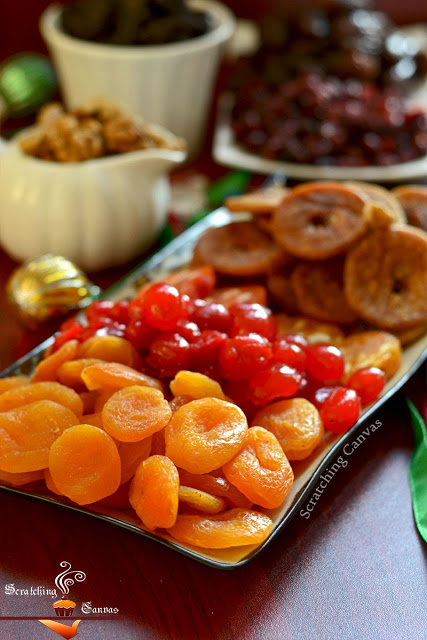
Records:
{"label": "heap of brown walnut pieces in the white pitcher", "polygon": [[53,162],[82,162],[138,149],[183,149],[185,143],[125,113],[107,100],[64,111],[45,105],[34,130],[20,142],[23,152]]}

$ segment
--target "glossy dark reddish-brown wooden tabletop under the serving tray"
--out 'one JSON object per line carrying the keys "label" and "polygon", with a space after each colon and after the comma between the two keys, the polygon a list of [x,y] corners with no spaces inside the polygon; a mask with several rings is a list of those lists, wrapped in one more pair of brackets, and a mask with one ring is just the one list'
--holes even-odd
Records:
{"label": "glossy dark reddish-brown wooden tabletop under the serving tray", "polygon": [[[14,266],[0,253],[1,368],[52,330],[29,334],[17,323],[4,293]],[[105,286],[119,275],[95,280]],[[421,407],[422,372],[405,392]],[[0,490],[0,638],[54,637],[37,618],[52,616],[52,596],[43,594],[54,588],[64,560],[87,576],[72,587],[74,600],[118,609],[101,615],[108,620],[82,616],[82,640],[425,638],[427,555],[412,515],[413,443],[403,396],[375,418],[383,428],[334,476],[310,519],[297,515],[263,554],[229,572]],[[9,595],[11,584],[23,592]],[[33,619],[4,619],[13,617]]]}

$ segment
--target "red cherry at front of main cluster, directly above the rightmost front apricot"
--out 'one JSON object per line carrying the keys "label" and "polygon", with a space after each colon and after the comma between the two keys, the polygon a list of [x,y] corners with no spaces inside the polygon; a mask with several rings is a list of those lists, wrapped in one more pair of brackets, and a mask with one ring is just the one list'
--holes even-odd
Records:
{"label": "red cherry at front of main cluster, directly above the rightmost front apricot", "polygon": [[253,376],[250,389],[256,404],[265,405],[278,398],[294,396],[301,385],[301,374],[285,364],[274,364]]}

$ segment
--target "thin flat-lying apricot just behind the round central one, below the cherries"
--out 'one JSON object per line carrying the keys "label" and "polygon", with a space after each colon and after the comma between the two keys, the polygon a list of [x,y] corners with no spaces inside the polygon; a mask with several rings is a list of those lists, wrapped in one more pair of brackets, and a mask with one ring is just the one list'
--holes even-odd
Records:
{"label": "thin flat-lying apricot just behind the round central one, below the cherries", "polygon": [[119,362],[93,364],[84,369],[81,375],[89,391],[96,389],[122,389],[135,384],[163,391],[162,383],[155,378]]}

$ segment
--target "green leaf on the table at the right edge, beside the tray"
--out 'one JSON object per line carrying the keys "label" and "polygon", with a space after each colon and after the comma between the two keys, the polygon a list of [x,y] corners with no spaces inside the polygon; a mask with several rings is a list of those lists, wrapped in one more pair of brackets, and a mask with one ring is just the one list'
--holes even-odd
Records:
{"label": "green leaf on the table at the right edge, beside the tray", "polygon": [[427,429],[414,404],[407,398],[414,429],[415,450],[409,464],[414,518],[421,537],[427,542]]}

